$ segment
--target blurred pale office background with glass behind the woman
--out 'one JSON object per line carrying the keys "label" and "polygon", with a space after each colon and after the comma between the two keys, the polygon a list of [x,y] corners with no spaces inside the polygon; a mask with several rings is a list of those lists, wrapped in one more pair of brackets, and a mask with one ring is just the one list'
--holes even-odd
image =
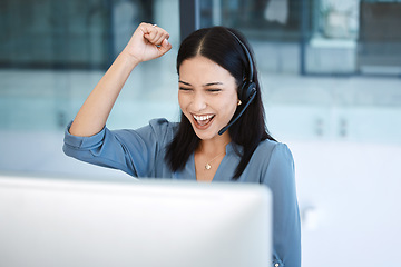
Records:
{"label": "blurred pale office background with glass behind the woman", "polygon": [[109,128],[178,120],[180,34],[236,28],[268,129],[295,158],[303,266],[401,265],[401,0],[2,0],[0,172],[130,179],[61,146],[140,21],[169,31],[173,50],[135,69]]}

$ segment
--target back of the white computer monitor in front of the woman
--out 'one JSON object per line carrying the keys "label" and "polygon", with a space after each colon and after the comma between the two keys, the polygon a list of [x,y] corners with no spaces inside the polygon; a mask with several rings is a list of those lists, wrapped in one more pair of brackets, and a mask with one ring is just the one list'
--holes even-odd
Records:
{"label": "back of the white computer monitor in front of the woman", "polygon": [[0,176],[0,266],[271,264],[264,186]]}

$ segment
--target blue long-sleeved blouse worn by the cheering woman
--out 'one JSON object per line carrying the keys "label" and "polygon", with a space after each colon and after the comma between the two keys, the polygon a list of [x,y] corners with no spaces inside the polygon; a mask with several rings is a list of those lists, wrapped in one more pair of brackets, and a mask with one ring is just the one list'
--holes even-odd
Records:
{"label": "blue long-sleeved blouse worn by the cheering woman", "polygon": [[[71,123],[70,123],[71,125]],[[91,137],[65,132],[66,155],[98,166],[120,169],[138,178],[196,180],[194,155],[180,171],[172,171],[165,161],[166,146],[173,140],[178,122],[154,119],[137,130],[109,130]],[[235,148],[234,148],[235,146]],[[254,151],[237,181],[232,177],[241,157],[241,146],[228,144],[213,182],[258,182],[273,194],[273,265],[301,266],[301,224],[295,190],[294,161],[286,145],[264,140]]]}

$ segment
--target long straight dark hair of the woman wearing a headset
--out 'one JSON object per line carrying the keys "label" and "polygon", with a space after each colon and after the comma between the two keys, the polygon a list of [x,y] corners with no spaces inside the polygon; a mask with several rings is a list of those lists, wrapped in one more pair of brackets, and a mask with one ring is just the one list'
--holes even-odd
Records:
{"label": "long straight dark hair of the woman wearing a headset", "polygon": [[[238,31],[225,27],[212,27],[193,32],[182,42],[177,56],[178,76],[179,67],[184,60],[203,56],[226,69],[235,78],[238,90],[241,90],[244,79],[248,77],[250,63],[243,47],[233,33],[247,48],[253,66],[255,66],[252,49]],[[243,174],[261,141],[265,139],[274,140],[265,125],[261,86],[257,79],[256,68],[254,68],[253,71],[253,82],[256,85],[255,99],[242,117],[228,129],[232,141],[243,147],[242,152],[236,150],[241,156],[241,161],[236,167],[233,179],[237,179]],[[196,136],[189,120],[182,112],[178,131],[166,151],[166,160],[173,171],[180,170],[185,167],[189,156],[198,147],[199,141],[200,139]]]}

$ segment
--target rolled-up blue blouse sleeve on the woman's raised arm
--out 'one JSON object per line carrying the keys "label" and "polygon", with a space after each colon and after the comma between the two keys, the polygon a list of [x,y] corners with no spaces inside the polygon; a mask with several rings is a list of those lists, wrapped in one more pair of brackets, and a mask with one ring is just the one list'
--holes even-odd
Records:
{"label": "rolled-up blue blouse sleeve on the woman's raised arm", "polygon": [[168,132],[169,122],[155,119],[137,130],[109,130],[104,128],[91,137],[65,131],[62,150],[67,156],[102,166],[120,169],[135,177],[151,177],[156,157]]}

